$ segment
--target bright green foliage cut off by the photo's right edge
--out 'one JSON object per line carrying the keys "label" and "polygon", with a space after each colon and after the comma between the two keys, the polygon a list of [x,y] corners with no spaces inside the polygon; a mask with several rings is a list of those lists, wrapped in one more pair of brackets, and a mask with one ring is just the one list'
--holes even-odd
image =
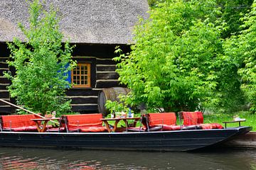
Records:
{"label": "bright green foliage cut off by the photo's right edge", "polygon": [[252,4],[250,13],[242,18],[244,28],[240,35],[233,36],[225,44],[226,55],[230,55],[239,65],[238,74],[242,81],[242,90],[252,104],[250,110],[256,112],[256,4]]}

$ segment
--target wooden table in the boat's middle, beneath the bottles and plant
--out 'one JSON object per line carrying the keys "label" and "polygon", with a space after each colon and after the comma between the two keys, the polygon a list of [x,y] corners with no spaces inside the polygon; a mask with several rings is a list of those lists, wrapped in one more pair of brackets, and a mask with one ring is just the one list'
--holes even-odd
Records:
{"label": "wooden table in the boat's middle, beneath the bottles and plant", "polygon": [[[124,123],[125,123],[126,127],[128,128],[127,120],[134,120],[134,123],[133,123],[132,127],[135,127],[136,124],[137,124],[137,121],[139,119],[140,118],[102,118],[100,120],[102,120],[103,123],[105,123],[108,132],[116,132],[117,124],[119,123],[120,120],[124,120]],[[114,128],[113,129],[110,128],[110,124],[108,123],[108,121],[114,121]]]}

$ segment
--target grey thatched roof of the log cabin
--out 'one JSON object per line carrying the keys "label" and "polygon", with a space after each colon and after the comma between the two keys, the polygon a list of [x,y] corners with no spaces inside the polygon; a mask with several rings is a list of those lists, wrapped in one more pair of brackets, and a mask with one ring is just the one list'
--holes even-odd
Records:
{"label": "grey thatched roof of the log cabin", "polygon": [[[46,0],[59,9],[60,30],[74,43],[127,44],[138,16],[146,18],[146,0]],[[0,0],[0,42],[24,40],[17,23],[28,26],[26,0]]]}

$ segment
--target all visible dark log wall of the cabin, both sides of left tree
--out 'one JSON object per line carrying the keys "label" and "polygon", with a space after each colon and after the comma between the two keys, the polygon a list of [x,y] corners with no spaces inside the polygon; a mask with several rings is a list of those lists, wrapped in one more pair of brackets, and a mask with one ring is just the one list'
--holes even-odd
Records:
{"label": "all visible dark log wall of the cabin, both sides of left tree", "polygon": [[[129,52],[128,45],[121,45],[124,52]],[[66,94],[67,98],[72,99],[72,109],[80,113],[98,113],[97,96],[102,89],[119,85],[118,74],[115,72],[116,63],[112,60],[114,57],[114,48],[116,45],[89,45],[76,44],[73,51],[73,59],[78,63],[91,64],[91,88],[72,88]],[[0,98],[6,101],[14,102],[10,98],[6,86],[10,81],[3,77],[3,72],[8,71],[9,67],[6,60],[9,59],[9,50],[5,43],[0,43]],[[0,103],[0,115],[14,112],[14,108]]]}

